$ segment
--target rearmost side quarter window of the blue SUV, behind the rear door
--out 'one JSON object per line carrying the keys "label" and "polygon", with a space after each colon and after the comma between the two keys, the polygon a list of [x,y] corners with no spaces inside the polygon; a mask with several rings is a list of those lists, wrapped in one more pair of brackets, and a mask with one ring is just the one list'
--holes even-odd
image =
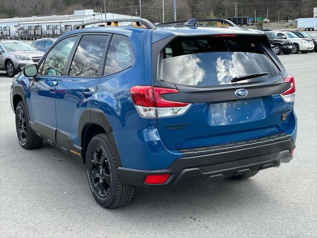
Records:
{"label": "rearmost side quarter window of the blue SUV, behind the rear door", "polygon": [[126,36],[113,35],[109,46],[104,75],[120,72],[134,64],[130,40]]}

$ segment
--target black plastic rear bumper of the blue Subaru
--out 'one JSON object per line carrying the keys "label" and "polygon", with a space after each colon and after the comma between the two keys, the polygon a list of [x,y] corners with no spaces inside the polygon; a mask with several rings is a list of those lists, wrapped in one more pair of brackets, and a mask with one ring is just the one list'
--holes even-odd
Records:
{"label": "black plastic rear bumper of the blue Subaru", "polygon": [[[278,167],[292,159],[295,145],[290,135],[281,133],[256,140],[220,146],[180,150],[183,158],[164,170],[136,170],[119,167],[122,182],[149,187],[179,186],[186,183],[223,179],[253,171]],[[164,184],[145,184],[147,175],[171,174]]]}

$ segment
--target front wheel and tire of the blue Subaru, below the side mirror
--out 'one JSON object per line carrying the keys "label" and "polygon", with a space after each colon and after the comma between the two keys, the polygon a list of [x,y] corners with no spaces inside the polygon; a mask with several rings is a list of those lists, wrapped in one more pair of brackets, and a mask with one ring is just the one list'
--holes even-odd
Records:
{"label": "front wheel and tire of the blue Subaru, below the side mirror", "polygon": [[15,128],[19,143],[24,149],[35,149],[42,145],[43,140],[29,125],[29,117],[23,102],[19,102],[15,109]]}

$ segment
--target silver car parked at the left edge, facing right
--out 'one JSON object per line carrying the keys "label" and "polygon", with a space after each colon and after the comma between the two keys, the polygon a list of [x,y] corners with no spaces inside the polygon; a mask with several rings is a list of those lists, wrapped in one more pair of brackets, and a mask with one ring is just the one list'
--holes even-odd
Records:
{"label": "silver car parked at the left edge, facing right", "polygon": [[0,70],[13,77],[27,64],[38,62],[44,52],[17,40],[0,40]]}

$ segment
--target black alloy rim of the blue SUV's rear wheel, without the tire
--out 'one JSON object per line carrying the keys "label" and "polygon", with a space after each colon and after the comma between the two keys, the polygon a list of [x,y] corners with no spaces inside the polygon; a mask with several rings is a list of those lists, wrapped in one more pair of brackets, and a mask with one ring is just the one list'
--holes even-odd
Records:
{"label": "black alloy rim of the blue SUV's rear wheel, without the tire", "polygon": [[102,149],[97,146],[93,149],[90,163],[90,174],[95,193],[105,198],[111,188],[110,164]]}

